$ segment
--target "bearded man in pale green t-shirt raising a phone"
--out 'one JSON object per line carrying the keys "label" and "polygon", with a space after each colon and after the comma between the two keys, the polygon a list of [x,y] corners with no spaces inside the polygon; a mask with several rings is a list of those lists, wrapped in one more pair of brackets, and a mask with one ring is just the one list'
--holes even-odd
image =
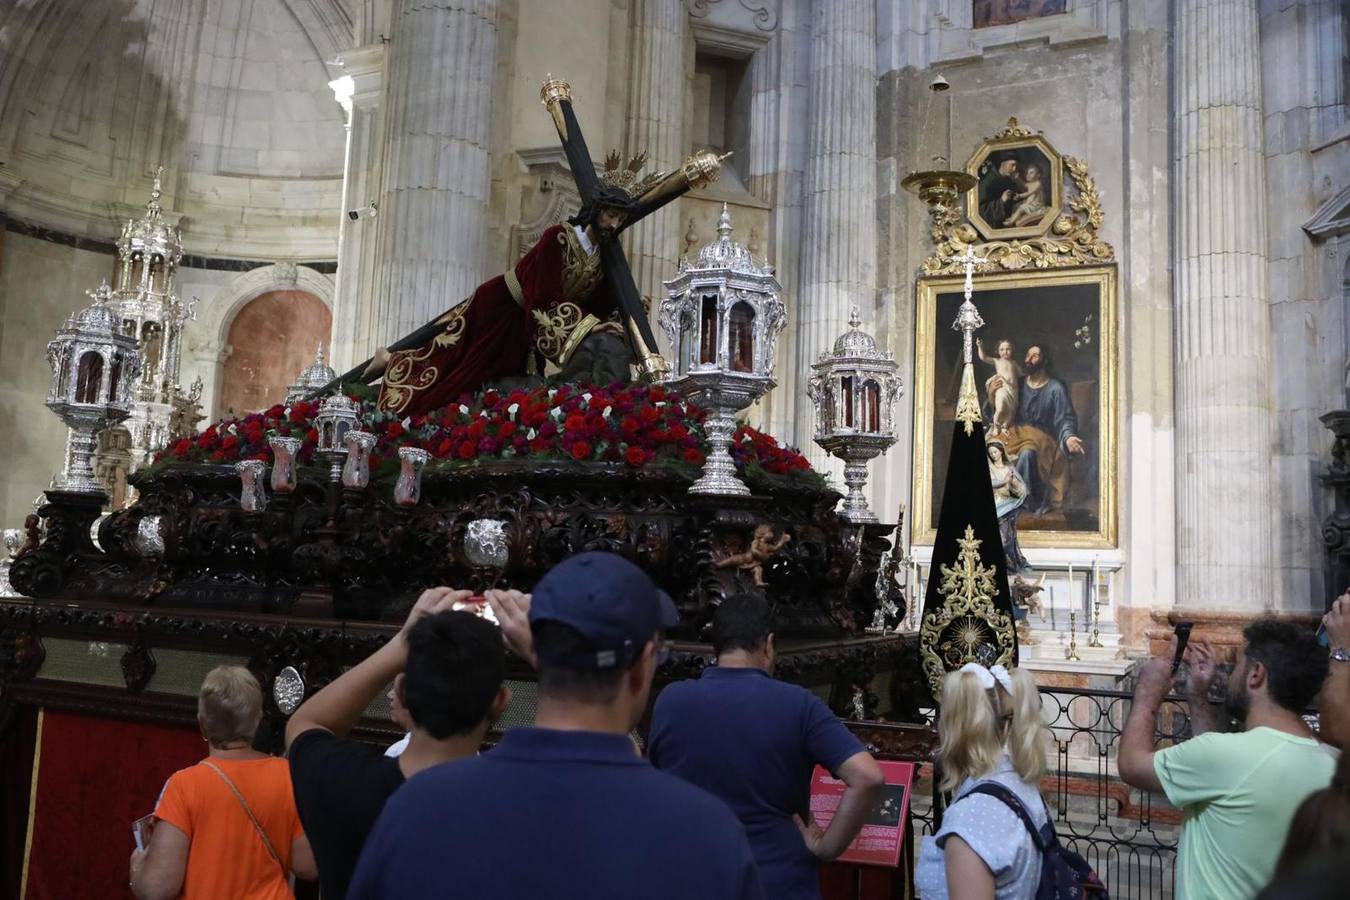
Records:
{"label": "bearded man in pale green t-shirt raising a phone", "polygon": [[1245,900],[1274,874],[1293,811],[1331,783],[1336,750],[1320,743],[1300,712],[1327,675],[1327,650],[1308,630],[1261,619],[1243,629],[1245,645],[1228,677],[1224,707],[1239,733],[1216,731],[1206,696],[1214,650],[1187,650],[1192,739],[1153,749],[1154,722],[1172,687],[1172,660],[1145,663],[1120,735],[1120,779],[1162,791],[1185,812],[1177,850],[1180,900]]}

